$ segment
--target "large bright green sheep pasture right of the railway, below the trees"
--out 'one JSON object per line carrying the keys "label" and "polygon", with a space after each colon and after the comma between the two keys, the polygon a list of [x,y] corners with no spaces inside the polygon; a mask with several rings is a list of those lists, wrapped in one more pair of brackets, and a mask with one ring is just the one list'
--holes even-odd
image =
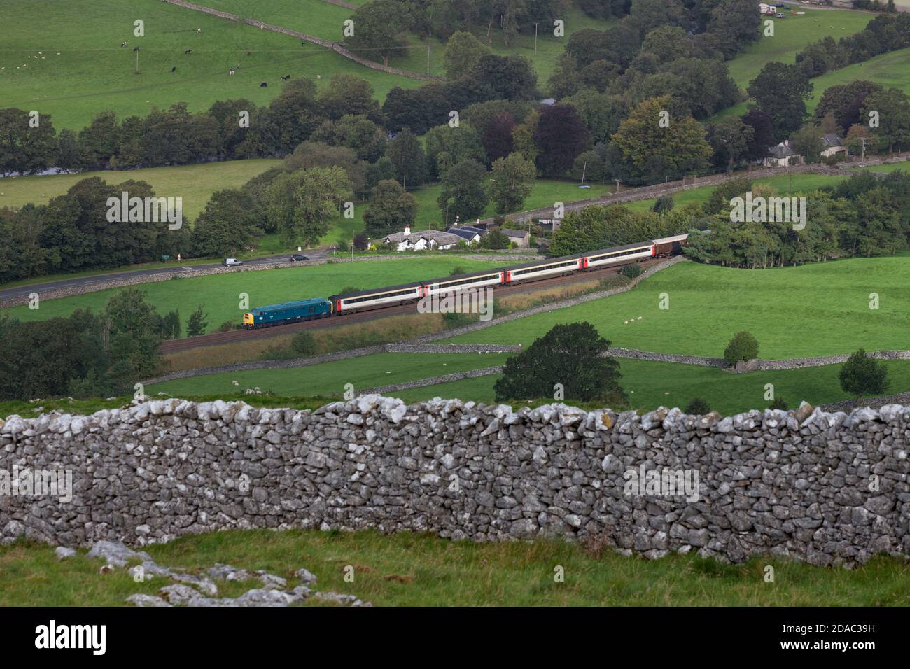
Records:
{"label": "large bright green sheep pasture right of the railway, below the trees", "polygon": [[[764,360],[906,349],[910,261],[855,258],[796,268],[729,269],[682,263],[636,289],[568,309],[493,325],[451,341],[518,344],[557,323],[590,321],[613,346],[723,357],[739,330],[758,339]],[[869,309],[876,292],[881,309]],[[670,309],[659,309],[662,293]],[[641,316],[642,320],[637,320]],[[636,319],[624,325],[623,321]]]}

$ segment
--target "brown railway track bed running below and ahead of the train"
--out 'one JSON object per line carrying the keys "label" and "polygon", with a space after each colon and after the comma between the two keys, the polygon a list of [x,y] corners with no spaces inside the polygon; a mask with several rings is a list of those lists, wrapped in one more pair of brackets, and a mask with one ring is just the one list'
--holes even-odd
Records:
{"label": "brown railway track bed running below and ahead of the train", "polygon": [[[662,258],[651,258],[638,263],[642,268],[651,267]],[[534,290],[550,289],[559,286],[565,286],[577,281],[599,279],[612,274],[617,274],[622,266],[612,266],[605,269],[594,269],[576,274],[569,274],[564,277],[554,277],[552,279],[543,279],[541,281],[531,281],[517,286],[498,286],[494,295],[497,297],[505,295],[518,295],[521,293],[531,292]],[[202,346],[219,346],[221,344],[232,344],[238,341],[266,339],[269,337],[280,337],[282,335],[293,334],[301,329],[327,329],[339,325],[350,323],[363,323],[369,320],[386,318],[388,316],[400,316],[417,312],[417,304],[402,304],[394,307],[383,309],[373,309],[370,311],[361,311],[354,314],[345,314],[343,316],[332,316],[328,319],[308,320],[302,323],[289,323],[288,325],[276,325],[264,329],[232,329],[227,332],[211,332],[198,337],[186,337],[181,340],[167,340],[161,344],[162,353],[174,353],[179,350],[197,349]]]}

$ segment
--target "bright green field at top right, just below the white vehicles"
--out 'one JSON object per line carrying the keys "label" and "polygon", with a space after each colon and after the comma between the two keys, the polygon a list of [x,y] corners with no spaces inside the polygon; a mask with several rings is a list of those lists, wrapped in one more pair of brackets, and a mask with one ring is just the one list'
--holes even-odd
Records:
{"label": "bright green field at top right, just below the white vehicles", "polygon": [[[858,33],[873,18],[872,14],[849,10],[807,10],[802,16],[788,13],[786,18],[773,19],[773,37],[764,36],[763,23],[759,40],[743,49],[728,64],[730,76],[744,91],[768,63],[779,61],[790,65],[795,62],[796,54],[813,42],[827,36],[836,40]],[[765,21],[765,17],[762,17],[762,21]]]}

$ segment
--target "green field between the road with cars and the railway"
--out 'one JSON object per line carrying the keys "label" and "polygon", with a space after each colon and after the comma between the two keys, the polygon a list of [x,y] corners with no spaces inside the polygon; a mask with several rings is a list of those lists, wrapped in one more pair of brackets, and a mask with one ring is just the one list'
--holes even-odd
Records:
{"label": "green field between the road with cars and the railway", "polygon": [[[501,264],[440,256],[230,272],[193,279],[169,279],[139,288],[146,291],[148,301],[155,305],[159,314],[179,309],[184,321],[197,305],[203,305],[208,314],[208,331],[211,331],[226,320],[240,322],[243,312],[248,310],[238,307],[240,293],[248,293],[249,306],[257,307],[292,299],[324,298],[349,286],[368,289],[434,276],[445,277],[456,267],[470,271],[499,267]],[[119,290],[122,289],[49,299],[41,302],[40,309],[33,310],[24,306],[8,311],[22,320],[67,316],[76,309],[87,308],[97,312],[104,309],[107,300]]]}

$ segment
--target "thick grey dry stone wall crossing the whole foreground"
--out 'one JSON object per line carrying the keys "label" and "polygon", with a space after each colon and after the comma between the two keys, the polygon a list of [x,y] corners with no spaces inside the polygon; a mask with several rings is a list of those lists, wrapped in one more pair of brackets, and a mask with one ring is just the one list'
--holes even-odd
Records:
{"label": "thick grey dry stone wall crossing the whole foreground", "polygon": [[[649,558],[864,563],[910,551],[908,439],[910,407],[900,405],[720,419],[460,400],[409,407],[379,395],[312,412],[151,401],[5,421],[0,471],[69,471],[72,490],[69,502],[0,496],[0,534],[75,546],[377,528],[591,538]],[[652,487],[655,472],[663,483]]]}

